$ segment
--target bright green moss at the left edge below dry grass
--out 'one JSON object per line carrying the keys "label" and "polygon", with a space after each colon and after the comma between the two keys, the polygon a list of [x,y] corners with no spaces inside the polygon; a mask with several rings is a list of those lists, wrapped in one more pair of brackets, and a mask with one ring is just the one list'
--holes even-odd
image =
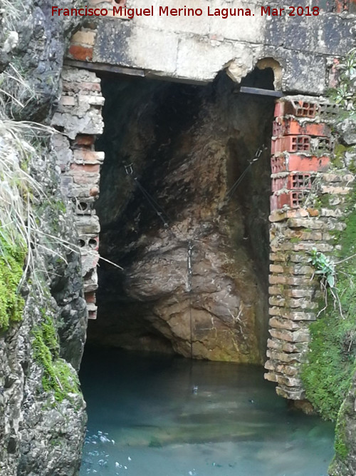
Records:
{"label": "bright green moss at the left edge below dry grass", "polygon": [[23,275],[24,247],[0,235],[0,330],[22,318],[23,298],[19,283]]}

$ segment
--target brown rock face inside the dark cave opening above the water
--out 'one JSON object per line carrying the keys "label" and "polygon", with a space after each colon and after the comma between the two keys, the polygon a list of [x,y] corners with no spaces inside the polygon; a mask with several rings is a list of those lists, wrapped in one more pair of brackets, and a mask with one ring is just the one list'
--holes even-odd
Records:
{"label": "brown rock face inside the dark cave opening above the water", "polygon": [[89,342],[261,363],[273,100],[239,93],[224,74],[209,86],[102,86],[100,254],[123,270],[100,266]]}

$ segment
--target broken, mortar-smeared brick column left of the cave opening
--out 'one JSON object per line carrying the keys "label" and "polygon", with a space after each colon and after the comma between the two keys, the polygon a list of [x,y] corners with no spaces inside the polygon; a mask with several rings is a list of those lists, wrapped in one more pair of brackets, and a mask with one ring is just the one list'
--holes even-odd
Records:
{"label": "broken, mortar-smeared brick column left of the cave opening", "polygon": [[52,121],[61,134],[53,138],[53,146],[61,167],[63,193],[75,208],[88,317],[95,319],[100,225],[93,206],[99,193],[104,153],[95,151],[94,143],[96,135],[103,132],[104,98],[100,79],[90,71],[66,67],[62,81],[63,93]]}

